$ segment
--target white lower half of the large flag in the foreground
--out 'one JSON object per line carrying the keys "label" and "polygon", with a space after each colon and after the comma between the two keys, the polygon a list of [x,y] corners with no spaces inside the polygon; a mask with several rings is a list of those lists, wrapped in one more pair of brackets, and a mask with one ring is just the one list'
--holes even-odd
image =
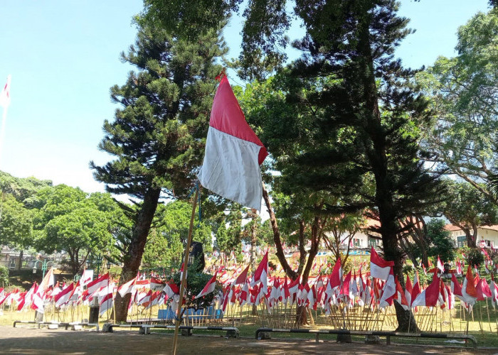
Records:
{"label": "white lower half of the large flag in the foreground", "polygon": [[263,182],[255,143],[208,129],[206,154],[198,179],[203,187],[245,207],[261,209]]}

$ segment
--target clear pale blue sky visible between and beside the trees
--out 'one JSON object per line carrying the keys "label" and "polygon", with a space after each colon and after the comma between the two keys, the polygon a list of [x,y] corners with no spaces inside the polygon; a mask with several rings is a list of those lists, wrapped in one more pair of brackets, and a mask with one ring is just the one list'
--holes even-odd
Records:
{"label": "clear pale blue sky visible between and beside the trees", "polygon": [[[104,190],[88,163],[110,159],[97,144],[103,121],[117,109],[109,89],[132,70],[120,53],[134,43],[132,16],[141,9],[140,0],[0,0],[1,87],[12,75],[0,170]],[[487,0],[401,1],[400,13],[416,33],[398,56],[420,67],[454,55],[458,26],[487,10]],[[226,33],[231,57],[240,48],[239,22],[235,17]]]}

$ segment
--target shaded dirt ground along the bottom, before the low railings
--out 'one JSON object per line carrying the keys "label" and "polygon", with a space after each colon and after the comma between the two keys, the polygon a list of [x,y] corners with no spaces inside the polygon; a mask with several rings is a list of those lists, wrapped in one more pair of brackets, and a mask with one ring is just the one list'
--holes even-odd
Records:
{"label": "shaded dirt ground along the bottom, before the low railings", "polygon": [[[0,327],[0,354],[171,354],[172,334],[137,331],[97,333],[63,329]],[[206,335],[179,337],[177,354],[498,354],[498,349],[441,346],[315,343],[299,339],[226,339]]]}

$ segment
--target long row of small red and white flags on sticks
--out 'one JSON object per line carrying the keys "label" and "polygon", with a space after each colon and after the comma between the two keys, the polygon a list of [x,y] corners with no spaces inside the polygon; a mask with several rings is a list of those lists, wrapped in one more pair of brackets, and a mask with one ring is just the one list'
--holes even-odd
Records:
{"label": "long row of small red and white flags on sticks", "polygon": [[[457,269],[463,266],[462,261],[457,261]],[[430,267],[430,266],[429,266]],[[393,273],[393,262],[385,261],[378,256],[375,249],[371,249],[370,273],[362,273],[362,266],[359,272],[350,271],[347,275],[342,274],[340,260],[332,268],[329,275],[318,275],[302,282],[300,278],[290,280],[279,277],[272,277],[268,271],[268,253],[265,253],[263,260],[252,277],[248,277],[247,266],[240,272],[241,267],[235,270],[240,272],[236,275],[229,275],[226,270],[216,271],[196,298],[213,293],[218,280],[222,285],[222,291],[215,295],[223,312],[228,305],[238,303],[238,305],[259,305],[265,302],[267,309],[272,308],[279,302],[283,304],[296,304],[317,310],[322,307],[330,312],[332,305],[346,305],[352,307],[355,304],[369,307],[386,307],[392,305],[393,301],[400,303],[407,310],[410,307],[427,306],[448,307],[452,309],[455,305],[455,297],[462,300],[467,310],[472,310],[472,305],[476,301],[489,297],[492,305],[498,305],[498,285],[494,280],[488,284],[487,280],[480,278],[476,272],[472,273],[470,265],[467,273],[460,285],[455,273],[452,273],[450,285],[445,285],[440,274],[444,272],[443,263],[438,258],[436,267],[430,270],[433,272],[433,279],[427,287],[420,285],[418,273],[415,272],[413,283],[407,276],[405,290],[401,287],[398,279]],[[438,272],[439,271],[439,272]],[[219,272],[219,275],[218,275]],[[425,271],[427,272],[427,271]],[[11,305],[15,302],[17,310],[31,307],[38,312],[43,312],[43,304],[53,302],[56,307],[66,307],[68,305],[90,304],[97,302],[100,305],[100,315],[112,308],[115,296],[120,293],[122,297],[131,293],[129,309],[133,305],[149,308],[154,305],[164,305],[170,300],[171,308],[175,311],[179,302],[179,287],[173,282],[163,283],[157,278],[144,278],[144,275],[137,275],[119,288],[115,280],[110,275],[100,275],[92,280],[92,271],[84,271],[77,283],[53,285],[53,271],[49,271],[40,285],[34,283],[27,292],[13,290],[5,293],[0,290],[0,305]]]}

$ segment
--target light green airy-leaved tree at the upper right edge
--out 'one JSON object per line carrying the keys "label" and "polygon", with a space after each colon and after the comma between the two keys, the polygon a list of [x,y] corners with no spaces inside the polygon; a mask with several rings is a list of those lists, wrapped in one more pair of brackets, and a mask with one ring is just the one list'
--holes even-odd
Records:
{"label": "light green airy-leaved tree at the upper right edge", "polygon": [[498,9],[458,29],[455,58],[418,74],[436,113],[424,145],[438,163],[498,204],[486,184],[498,168]]}

